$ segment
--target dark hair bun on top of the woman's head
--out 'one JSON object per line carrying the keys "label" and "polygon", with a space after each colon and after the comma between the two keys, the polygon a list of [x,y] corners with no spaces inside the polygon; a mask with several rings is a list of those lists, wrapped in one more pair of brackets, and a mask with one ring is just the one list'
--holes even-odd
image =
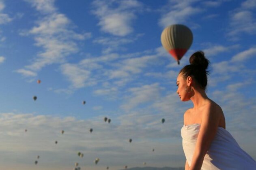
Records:
{"label": "dark hair bun on top of the woman's head", "polygon": [[209,60],[204,56],[203,51],[197,51],[192,54],[189,58],[189,62],[193,65],[200,65],[204,70],[206,70],[209,65]]}

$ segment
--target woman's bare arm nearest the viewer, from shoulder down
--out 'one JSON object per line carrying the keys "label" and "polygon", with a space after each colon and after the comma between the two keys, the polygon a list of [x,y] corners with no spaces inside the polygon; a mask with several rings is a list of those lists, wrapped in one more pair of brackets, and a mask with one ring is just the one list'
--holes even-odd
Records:
{"label": "woman's bare arm nearest the viewer, from shoulder down", "polygon": [[219,109],[221,108],[218,108],[215,104],[209,104],[208,107],[207,111],[202,113],[200,131],[189,170],[201,169],[204,156],[217,133],[221,113]]}

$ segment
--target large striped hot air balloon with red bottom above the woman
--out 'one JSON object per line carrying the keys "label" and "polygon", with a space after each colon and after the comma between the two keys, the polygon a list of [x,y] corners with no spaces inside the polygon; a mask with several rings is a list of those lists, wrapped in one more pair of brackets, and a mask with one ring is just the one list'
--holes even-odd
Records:
{"label": "large striped hot air balloon with red bottom above the woman", "polygon": [[185,55],[193,41],[191,30],[184,25],[174,24],[166,27],[161,34],[163,47],[180,64],[179,60]]}

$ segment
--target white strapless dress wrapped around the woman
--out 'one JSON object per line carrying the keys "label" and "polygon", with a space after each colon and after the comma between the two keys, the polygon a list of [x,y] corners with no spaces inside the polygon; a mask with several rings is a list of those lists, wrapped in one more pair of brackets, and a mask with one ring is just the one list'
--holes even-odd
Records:
{"label": "white strapless dress wrapped around the woman", "polygon": [[[182,146],[189,166],[199,130],[200,124],[183,125],[181,128]],[[218,127],[201,170],[256,170],[256,161],[239,147],[227,130]]]}

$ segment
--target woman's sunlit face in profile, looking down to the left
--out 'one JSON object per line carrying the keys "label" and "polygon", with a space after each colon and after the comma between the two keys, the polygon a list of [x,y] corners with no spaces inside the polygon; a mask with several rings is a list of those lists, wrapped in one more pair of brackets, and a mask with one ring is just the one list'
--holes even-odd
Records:
{"label": "woman's sunlit face in profile, looking down to the left", "polygon": [[[178,89],[177,89],[177,94],[179,95],[181,101],[185,102],[190,100],[190,96],[186,91],[187,83],[186,80],[183,78],[182,74],[180,73],[177,77],[177,82],[176,82]],[[187,88],[189,89],[189,88]]]}

